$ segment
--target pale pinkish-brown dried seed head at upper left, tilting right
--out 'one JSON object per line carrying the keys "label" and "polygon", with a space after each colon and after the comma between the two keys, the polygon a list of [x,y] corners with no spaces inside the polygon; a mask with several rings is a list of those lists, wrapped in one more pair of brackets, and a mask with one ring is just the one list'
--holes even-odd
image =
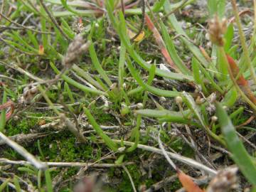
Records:
{"label": "pale pinkish-brown dried seed head at upper left, tilting right", "polygon": [[68,46],[67,53],[63,58],[62,64],[68,68],[70,68],[75,60],[77,60],[82,52],[86,51],[90,46],[90,41],[85,43],[85,40],[82,38],[81,34],[75,36],[74,40]]}

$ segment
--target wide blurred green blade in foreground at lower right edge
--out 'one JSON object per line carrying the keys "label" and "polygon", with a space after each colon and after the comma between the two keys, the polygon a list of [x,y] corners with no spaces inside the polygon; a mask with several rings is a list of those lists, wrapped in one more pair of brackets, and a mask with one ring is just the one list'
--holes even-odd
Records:
{"label": "wide blurred green blade in foreground at lower right edge", "polygon": [[223,110],[220,103],[216,103],[217,117],[220,122],[220,127],[228,145],[228,149],[232,153],[232,158],[235,163],[240,168],[242,174],[252,183],[256,185],[256,166],[253,163],[250,155],[247,153],[245,146],[243,146],[238,135],[235,132],[235,127],[233,126],[227,112]]}

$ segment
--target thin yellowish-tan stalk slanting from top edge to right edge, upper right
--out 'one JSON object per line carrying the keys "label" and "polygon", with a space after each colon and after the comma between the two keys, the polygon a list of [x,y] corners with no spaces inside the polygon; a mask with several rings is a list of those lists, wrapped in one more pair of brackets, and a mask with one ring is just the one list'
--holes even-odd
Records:
{"label": "thin yellowish-tan stalk slanting from top edge to right edge, upper right", "polygon": [[242,32],[242,24],[241,24],[240,18],[239,18],[238,7],[236,6],[235,0],[232,0],[231,3],[232,3],[232,6],[233,6],[233,12],[235,14],[235,21],[238,24],[238,32],[239,32],[240,41],[241,41],[241,44],[242,44],[242,50],[243,50],[243,53],[245,55],[245,63],[247,63],[247,67],[250,68],[250,73],[251,73],[251,76],[252,76],[252,80],[256,83],[255,70],[254,70],[254,68],[252,66],[252,62],[250,60],[250,53],[249,53],[249,50],[246,46],[245,35]]}

